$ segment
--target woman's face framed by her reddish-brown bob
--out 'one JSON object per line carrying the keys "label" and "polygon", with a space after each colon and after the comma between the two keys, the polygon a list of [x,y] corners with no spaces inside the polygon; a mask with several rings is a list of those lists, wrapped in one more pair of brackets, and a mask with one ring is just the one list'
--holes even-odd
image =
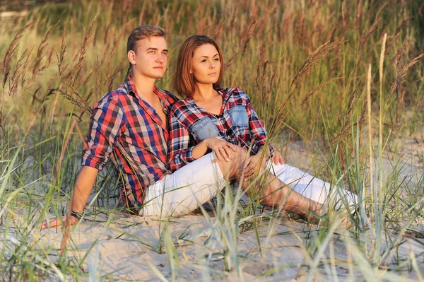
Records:
{"label": "woman's face framed by her reddish-brown bob", "polygon": [[194,50],[192,74],[196,83],[213,84],[218,81],[220,57],[218,50],[211,44],[205,44]]}

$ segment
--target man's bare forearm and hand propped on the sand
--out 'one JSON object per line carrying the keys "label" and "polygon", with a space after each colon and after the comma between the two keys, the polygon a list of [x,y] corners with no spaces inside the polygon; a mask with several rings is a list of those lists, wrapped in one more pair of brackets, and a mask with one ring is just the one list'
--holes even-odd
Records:
{"label": "man's bare forearm and hand propped on the sand", "polygon": [[[83,213],[88,196],[90,196],[91,191],[93,190],[95,178],[97,177],[98,172],[99,170],[97,168],[91,168],[89,166],[83,166],[81,168],[78,176],[76,177],[75,187],[73,187],[71,210]],[[65,216],[63,216],[61,220],[54,218],[49,223],[42,223],[41,229],[59,226],[64,221]],[[76,223],[78,223],[78,220],[71,216],[70,224],[75,225]]]}

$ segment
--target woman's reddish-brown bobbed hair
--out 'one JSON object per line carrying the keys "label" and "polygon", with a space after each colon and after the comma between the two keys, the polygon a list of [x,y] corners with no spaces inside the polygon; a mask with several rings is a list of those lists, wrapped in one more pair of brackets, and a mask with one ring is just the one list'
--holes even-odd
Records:
{"label": "woman's reddish-brown bobbed hair", "polygon": [[220,87],[220,83],[223,79],[224,64],[223,64],[223,53],[218,45],[211,37],[206,35],[193,35],[189,37],[181,49],[179,49],[177,59],[177,69],[175,69],[174,77],[172,79],[172,86],[179,95],[188,96],[194,93],[194,76],[190,74],[192,71],[192,57],[194,51],[201,45],[210,44],[218,50],[218,56],[220,60],[220,71],[218,81],[213,83],[214,88]]}

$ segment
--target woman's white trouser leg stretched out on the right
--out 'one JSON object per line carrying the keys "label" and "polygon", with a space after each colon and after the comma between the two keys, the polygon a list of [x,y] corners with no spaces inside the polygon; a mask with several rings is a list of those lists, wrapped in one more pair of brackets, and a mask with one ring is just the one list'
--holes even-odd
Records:
{"label": "woman's white trouser leg stretched out on the right", "polygon": [[331,187],[328,182],[302,172],[298,168],[287,164],[274,165],[273,163],[268,163],[267,166],[273,175],[276,175],[279,180],[287,184],[295,192],[312,201],[317,201],[319,204],[329,204],[327,208],[335,207],[339,209],[343,208],[343,206],[358,204],[358,196],[355,194],[340,187]]}

